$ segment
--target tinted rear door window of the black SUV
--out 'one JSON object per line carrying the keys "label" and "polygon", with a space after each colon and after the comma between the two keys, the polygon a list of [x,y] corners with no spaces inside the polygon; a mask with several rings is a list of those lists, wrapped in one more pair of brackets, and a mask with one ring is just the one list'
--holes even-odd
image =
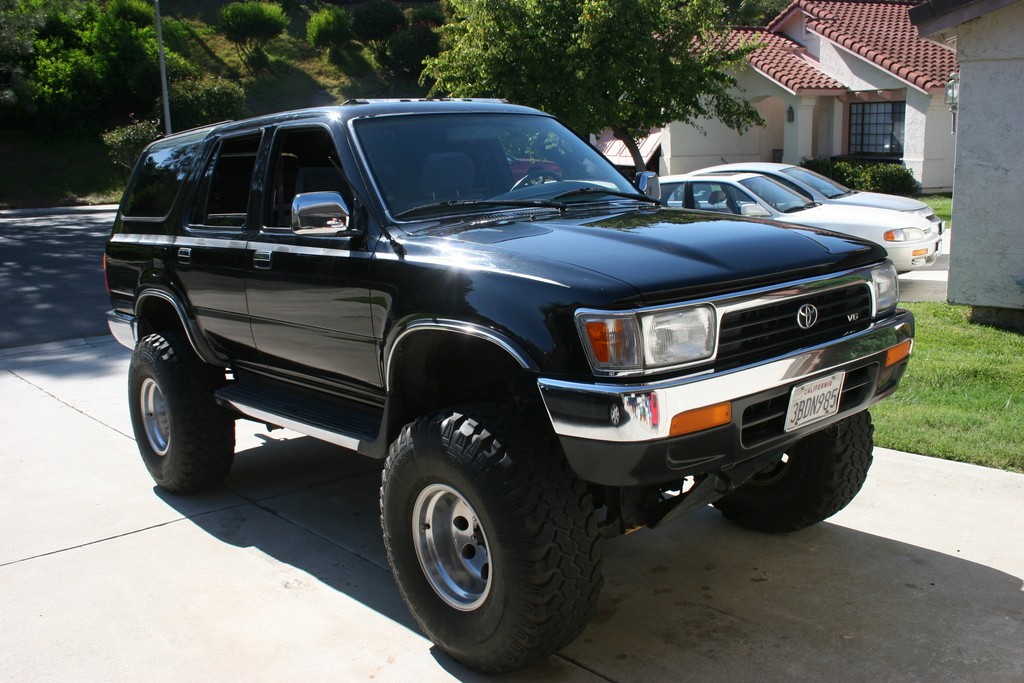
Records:
{"label": "tinted rear door window of the black SUV", "polygon": [[261,135],[221,140],[206,170],[189,213],[193,225],[244,227]]}

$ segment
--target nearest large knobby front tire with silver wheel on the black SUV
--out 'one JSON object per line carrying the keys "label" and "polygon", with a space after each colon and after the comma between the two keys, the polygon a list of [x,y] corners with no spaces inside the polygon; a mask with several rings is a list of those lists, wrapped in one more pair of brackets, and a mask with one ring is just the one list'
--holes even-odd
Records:
{"label": "nearest large knobby front tire with silver wheel on the black SUV", "polygon": [[473,404],[407,425],[381,485],[395,581],[455,659],[512,671],[571,642],[602,586],[593,502],[540,419]]}

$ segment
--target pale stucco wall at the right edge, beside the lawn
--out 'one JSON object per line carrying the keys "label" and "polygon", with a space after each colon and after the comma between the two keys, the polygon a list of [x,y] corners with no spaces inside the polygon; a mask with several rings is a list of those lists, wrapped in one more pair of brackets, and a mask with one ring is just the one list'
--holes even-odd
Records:
{"label": "pale stucco wall at the right edge, beside the lawn", "polygon": [[1024,3],[956,31],[961,65],[948,297],[1024,309]]}

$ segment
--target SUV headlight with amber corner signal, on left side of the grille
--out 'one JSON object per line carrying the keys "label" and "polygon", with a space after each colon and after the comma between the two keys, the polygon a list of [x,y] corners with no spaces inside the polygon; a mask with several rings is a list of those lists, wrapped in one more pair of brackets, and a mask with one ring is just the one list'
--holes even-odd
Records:
{"label": "SUV headlight with amber corner signal, on left side of the grille", "polygon": [[705,360],[715,355],[712,306],[650,312],[577,312],[577,328],[591,367],[600,374],[630,374]]}

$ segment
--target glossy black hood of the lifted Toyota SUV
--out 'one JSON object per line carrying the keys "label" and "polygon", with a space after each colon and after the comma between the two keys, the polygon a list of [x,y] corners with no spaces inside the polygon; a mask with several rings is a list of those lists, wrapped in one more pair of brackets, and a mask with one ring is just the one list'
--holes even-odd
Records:
{"label": "glossy black hood of the lifted Toyota SUV", "polygon": [[[468,219],[467,219],[468,220]],[[884,250],[840,234],[777,222],[658,209],[534,220],[438,224],[411,237],[427,258],[551,281],[562,287],[607,289],[626,284],[646,303],[722,293],[797,276],[857,267]],[[582,292],[581,292],[582,294]]]}

